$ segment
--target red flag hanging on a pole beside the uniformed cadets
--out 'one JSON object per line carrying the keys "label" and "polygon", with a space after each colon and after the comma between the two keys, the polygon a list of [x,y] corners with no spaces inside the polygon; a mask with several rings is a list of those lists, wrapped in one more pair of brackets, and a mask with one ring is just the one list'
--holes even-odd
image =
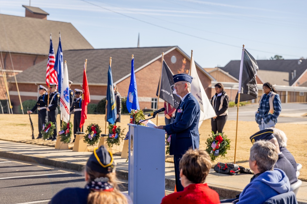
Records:
{"label": "red flag hanging on a pole beside the uniformed cadets", "polygon": [[87,118],[87,104],[91,102],[90,91],[88,89],[85,69],[86,69],[86,62],[84,63],[84,70],[83,70],[83,86],[82,86],[83,93],[82,93],[82,110],[81,110],[80,128],[82,128],[85,122],[85,119]]}

